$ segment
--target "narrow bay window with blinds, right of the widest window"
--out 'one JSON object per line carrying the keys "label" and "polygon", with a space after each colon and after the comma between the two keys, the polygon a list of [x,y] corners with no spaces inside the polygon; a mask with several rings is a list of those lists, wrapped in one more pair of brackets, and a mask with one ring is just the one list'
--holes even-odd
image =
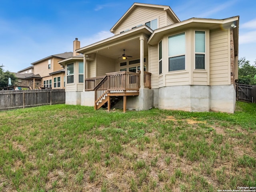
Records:
{"label": "narrow bay window with blinds, right of the widest window", "polygon": [[195,32],[195,68],[205,69],[205,32]]}

